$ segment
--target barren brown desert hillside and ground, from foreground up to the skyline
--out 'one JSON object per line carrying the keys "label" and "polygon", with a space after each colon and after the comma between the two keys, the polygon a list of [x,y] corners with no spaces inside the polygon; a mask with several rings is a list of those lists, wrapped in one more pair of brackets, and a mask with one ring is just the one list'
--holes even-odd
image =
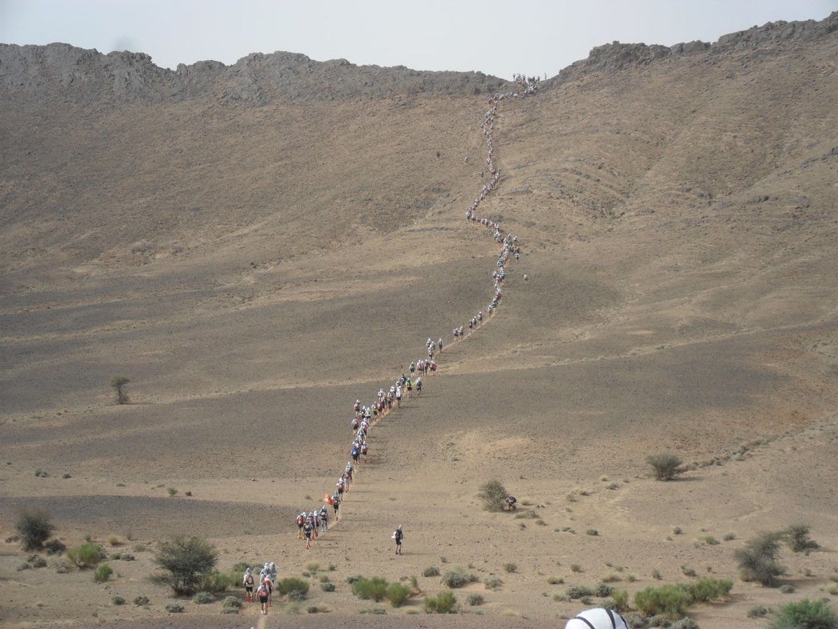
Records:
{"label": "barren brown desert hillside and ground, from foreground up to the skyline", "polygon": [[[344,578],[443,563],[504,584],[469,585],[462,615],[423,626],[563,626],[582,606],[553,595],[615,570],[630,595],[654,571],[733,579],[727,600],[691,608],[702,627],[764,626],[749,608],[829,596],[836,30],[833,13],[714,44],[607,44],[499,101],[499,185],[480,214],[521,255],[497,314],[456,342],[493,294],[499,245],[465,214],[490,176],[487,101],[515,83],[288,53],[173,72],[0,45],[3,538],[37,506],[68,546],[200,535],[220,569],[332,564],[337,585],[314,574],[310,605],[258,619],[189,600],[172,616],[151,552],[96,585],[17,571],[28,554],[7,542],[0,624],[419,626],[421,596],[359,616],[372,605]],[[342,521],[306,550],[293,518],[334,487],[352,403],[427,337],[445,342],[437,374],[370,430]],[[114,403],[116,373],[130,403]],[[654,481],[646,458],[667,451],[689,469]],[[531,519],[481,508],[493,478]],[[784,549],[793,596],[738,579],[736,548],[799,522],[820,549]],[[56,594],[29,594],[41,586]]]}

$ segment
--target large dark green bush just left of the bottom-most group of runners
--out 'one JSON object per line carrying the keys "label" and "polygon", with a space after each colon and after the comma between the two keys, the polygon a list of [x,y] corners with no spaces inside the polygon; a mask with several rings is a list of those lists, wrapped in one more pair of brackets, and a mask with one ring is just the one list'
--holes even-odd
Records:
{"label": "large dark green bush just left of the bottom-most group of runners", "polygon": [[190,596],[197,592],[217,561],[215,546],[198,537],[174,537],[158,543],[154,555],[154,563],[168,571],[166,580],[178,596]]}

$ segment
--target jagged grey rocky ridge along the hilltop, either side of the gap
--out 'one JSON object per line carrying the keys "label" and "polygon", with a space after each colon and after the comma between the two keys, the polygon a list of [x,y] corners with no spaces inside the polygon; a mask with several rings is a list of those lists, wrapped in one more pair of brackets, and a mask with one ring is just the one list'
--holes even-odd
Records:
{"label": "jagged grey rocky ridge along the hilltop, either side of the gap", "polygon": [[[723,55],[771,49],[795,40],[838,39],[838,12],[820,21],[771,22],[726,34],[716,43],[673,46],[604,44],[587,59],[561,70],[549,83],[579,75],[619,71],[681,55]],[[0,44],[0,91],[7,96],[60,96],[70,101],[178,102],[207,98],[227,104],[262,106],[273,101],[334,101],[394,96],[467,96],[510,91],[514,83],[483,72],[421,71],[405,66],[355,65],[348,60],[315,61],[306,55],[253,53],[234,65],[199,61],[177,70],[154,65],[134,52],[102,54],[70,44]]]}

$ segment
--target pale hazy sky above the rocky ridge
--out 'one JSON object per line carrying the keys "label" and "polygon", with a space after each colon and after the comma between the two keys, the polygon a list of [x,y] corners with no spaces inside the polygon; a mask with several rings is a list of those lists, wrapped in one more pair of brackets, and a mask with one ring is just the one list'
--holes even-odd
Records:
{"label": "pale hazy sky above the rocky ridge", "polygon": [[127,49],[172,69],[287,50],[510,78],[556,75],[613,40],[715,41],[835,8],[835,0],[0,0],[0,42]]}

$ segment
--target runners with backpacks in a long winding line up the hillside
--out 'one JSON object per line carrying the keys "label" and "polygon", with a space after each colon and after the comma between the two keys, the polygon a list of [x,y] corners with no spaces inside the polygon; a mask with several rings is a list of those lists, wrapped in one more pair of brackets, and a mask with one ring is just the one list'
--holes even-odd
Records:
{"label": "runners with backpacks in a long winding line up the hillside", "polygon": [[[489,196],[489,194],[491,194],[491,192],[498,185],[498,181],[500,179],[500,171],[494,164],[494,138],[492,134],[492,131],[494,130],[494,117],[498,111],[498,105],[505,99],[524,98],[525,96],[535,94],[538,86],[538,77],[515,75],[515,82],[521,86],[520,91],[496,93],[494,96],[491,96],[489,98],[489,110],[485,112],[484,120],[480,123],[480,128],[483,130],[484,138],[486,138],[486,164],[488,165],[489,173],[492,176],[489,179],[489,183],[484,184],[480,195],[478,195],[468,208],[468,211],[466,212],[466,220],[471,224],[491,229],[494,242],[500,245],[500,252],[497,263],[495,263],[495,266],[492,269],[492,282],[494,284],[492,299],[486,307],[486,314],[484,314],[484,311],[481,309],[468,320],[469,332],[475,330],[488,316],[493,315],[497,311],[500,300],[503,297],[502,286],[504,279],[506,278],[506,268],[507,265],[510,264],[510,258],[514,257],[515,260],[520,258],[518,237],[510,233],[503,236],[500,231],[500,224],[498,221],[491,221],[489,218],[477,215],[478,206],[487,196]],[[481,173],[481,176],[482,175],[483,173]],[[526,274],[524,278],[527,279]],[[455,341],[460,340],[465,336],[465,327],[465,325],[458,325],[458,327],[453,329]],[[401,376],[397,377],[386,391],[384,387],[381,387],[378,390],[369,405],[364,405],[361,403],[360,399],[355,400],[353,405],[354,415],[350,422],[352,428],[352,444],[349,448],[349,455],[351,458],[347,461],[344,466],[344,470],[340,473],[338,481],[335,483],[335,490],[327,491],[323,496],[323,504],[308,512],[303,510],[297,516],[297,537],[305,540],[306,548],[312,547],[313,540],[317,539],[320,533],[328,531],[328,521],[330,519],[328,507],[332,507],[335,521],[339,519],[340,505],[346,499],[350,486],[358,473],[360,465],[365,463],[367,460],[367,455],[370,451],[370,444],[368,440],[370,429],[372,429],[372,427],[388,413],[391,413],[391,411],[396,408],[401,408],[402,399],[411,399],[414,392],[416,393],[417,398],[422,395],[422,377],[436,375],[437,356],[442,353],[443,342],[442,337],[439,337],[437,341],[428,337],[425,343],[427,357],[422,356],[422,358],[411,362],[406,372],[402,372]],[[400,525],[396,528],[396,532],[393,534],[393,538],[396,539],[397,554],[401,554],[401,540],[403,537]],[[266,569],[269,569],[271,565],[272,564],[265,564]],[[268,574],[271,574],[270,570],[268,571]],[[274,572],[273,574],[276,573]],[[245,579],[247,579],[247,573],[245,574]],[[263,577],[260,578],[262,585],[264,585],[264,580],[265,579]],[[268,589],[270,589],[270,585],[268,585]],[[270,605],[270,594],[268,594],[267,601],[267,604]],[[263,604],[262,607],[262,613],[266,613],[265,605]]]}

